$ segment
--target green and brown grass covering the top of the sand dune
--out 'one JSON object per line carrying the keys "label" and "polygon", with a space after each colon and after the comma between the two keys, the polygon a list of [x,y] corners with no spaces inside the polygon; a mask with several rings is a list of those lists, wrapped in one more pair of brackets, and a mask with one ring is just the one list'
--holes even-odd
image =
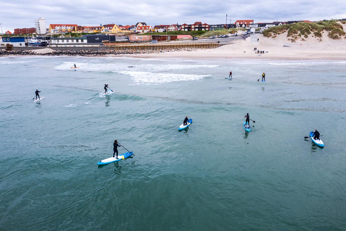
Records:
{"label": "green and brown grass covering the top of the sand dune", "polygon": [[[345,24],[345,21],[340,23]],[[274,26],[263,31],[265,37],[275,38],[277,35],[287,32],[289,40],[294,42],[299,38],[312,37],[321,38],[322,33],[327,32],[328,37],[331,39],[346,38],[343,26],[335,20],[318,21],[316,23],[292,23],[284,24],[281,26]]]}

